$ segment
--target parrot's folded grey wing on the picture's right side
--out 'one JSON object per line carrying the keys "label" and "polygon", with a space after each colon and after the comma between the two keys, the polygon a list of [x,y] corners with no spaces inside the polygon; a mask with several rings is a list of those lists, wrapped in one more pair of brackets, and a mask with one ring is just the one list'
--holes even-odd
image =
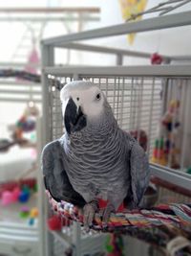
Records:
{"label": "parrot's folded grey wing on the picture's right side", "polygon": [[138,145],[138,141],[127,135],[130,147],[128,162],[130,168],[131,187],[128,191],[125,202],[129,207],[138,207],[141,199],[149,185],[150,169],[148,156],[145,151]]}

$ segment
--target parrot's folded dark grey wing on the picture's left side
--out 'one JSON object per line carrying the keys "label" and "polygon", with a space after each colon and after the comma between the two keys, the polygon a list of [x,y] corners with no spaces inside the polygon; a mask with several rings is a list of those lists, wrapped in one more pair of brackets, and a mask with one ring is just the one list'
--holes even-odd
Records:
{"label": "parrot's folded dark grey wing on the picture's left side", "polygon": [[77,192],[74,191],[69,177],[64,169],[65,153],[59,140],[55,140],[45,146],[42,151],[42,171],[46,189],[56,200],[66,200],[77,206],[85,204]]}

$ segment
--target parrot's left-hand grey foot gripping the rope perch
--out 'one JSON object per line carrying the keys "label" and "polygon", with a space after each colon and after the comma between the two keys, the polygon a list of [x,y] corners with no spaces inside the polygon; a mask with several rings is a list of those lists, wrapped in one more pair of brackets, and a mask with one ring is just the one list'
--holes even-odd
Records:
{"label": "parrot's left-hand grey foot gripping the rope perch", "polygon": [[87,203],[84,206],[83,210],[84,210],[84,226],[86,231],[88,232],[90,230],[90,227],[93,225],[95,214],[98,210],[98,202],[96,200],[93,200]]}

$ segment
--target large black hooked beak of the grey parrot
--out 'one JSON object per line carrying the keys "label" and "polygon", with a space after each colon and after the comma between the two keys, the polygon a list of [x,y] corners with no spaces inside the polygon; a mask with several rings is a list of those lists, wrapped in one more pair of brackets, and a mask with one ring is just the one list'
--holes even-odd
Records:
{"label": "large black hooked beak of the grey parrot", "polygon": [[87,125],[86,116],[83,114],[81,106],[77,109],[77,105],[75,105],[72,98],[69,99],[66,105],[64,123],[69,134],[71,134],[71,132],[80,131]]}

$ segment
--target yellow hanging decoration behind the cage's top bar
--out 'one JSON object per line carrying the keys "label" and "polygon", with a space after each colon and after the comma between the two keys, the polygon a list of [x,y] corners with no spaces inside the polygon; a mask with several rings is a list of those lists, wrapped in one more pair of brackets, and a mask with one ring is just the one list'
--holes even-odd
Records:
{"label": "yellow hanging decoration behind the cage's top bar", "polygon": [[[132,15],[139,12],[144,12],[147,4],[147,0],[119,0],[122,17],[124,20],[129,19]],[[138,16],[136,20],[141,20],[142,16]],[[134,43],[136,34],[128,35],[128,41],[130,44]]]}

